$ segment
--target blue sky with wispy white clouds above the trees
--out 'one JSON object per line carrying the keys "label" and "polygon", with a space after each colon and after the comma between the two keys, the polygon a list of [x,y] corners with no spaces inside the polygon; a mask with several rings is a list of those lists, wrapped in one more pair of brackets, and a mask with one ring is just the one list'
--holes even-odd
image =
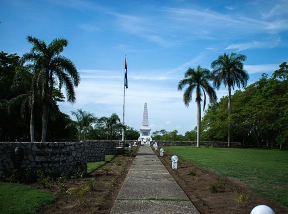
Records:
{"label": "blue sky with wispy white clouds above the trees", "polygon": [[[2,0],[0,51],[22,56],[31,48],[28,35],[47,44],[67,39],[62,55],[75,63],[81,83],[76,103],[59,103],[60,110],[116,113],[121,121],[126,54],[125,124],[139,130],[147,102],[151,132],[184,134],[197,124],[195,97],[186,108],[177,91],[188,67],[210,69],[219,55],[236,52],[247,56],[248,84],[270,76],[287,61],[287,11],[286,0]],[[227,94],[221,87],[218,100]]]}

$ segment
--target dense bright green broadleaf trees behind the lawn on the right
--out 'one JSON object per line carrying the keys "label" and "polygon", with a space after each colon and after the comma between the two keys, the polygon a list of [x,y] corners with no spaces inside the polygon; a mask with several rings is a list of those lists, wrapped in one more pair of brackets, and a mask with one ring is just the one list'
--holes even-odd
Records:
{"label": "dense bright green broadleaf trees behind the lawn on the right", "polygon": [[209,106],[203,117],[205,140],[223,141],[232,128],[232,141],[258,147],[287,145],[288,79],[286,62],[270,78],[267,74],[231,96],[233,113],[225,119],[227,96]]}

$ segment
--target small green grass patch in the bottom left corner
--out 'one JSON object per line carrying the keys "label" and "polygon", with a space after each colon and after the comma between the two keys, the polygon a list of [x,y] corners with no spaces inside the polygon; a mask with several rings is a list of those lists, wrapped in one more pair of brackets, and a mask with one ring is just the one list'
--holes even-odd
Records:
{"label": "small green grass patch in the bottom left corner", "polygon": [[55,201],[56,195],[18,183],[0,182],[0,213],[36,213],[43,203]]}

